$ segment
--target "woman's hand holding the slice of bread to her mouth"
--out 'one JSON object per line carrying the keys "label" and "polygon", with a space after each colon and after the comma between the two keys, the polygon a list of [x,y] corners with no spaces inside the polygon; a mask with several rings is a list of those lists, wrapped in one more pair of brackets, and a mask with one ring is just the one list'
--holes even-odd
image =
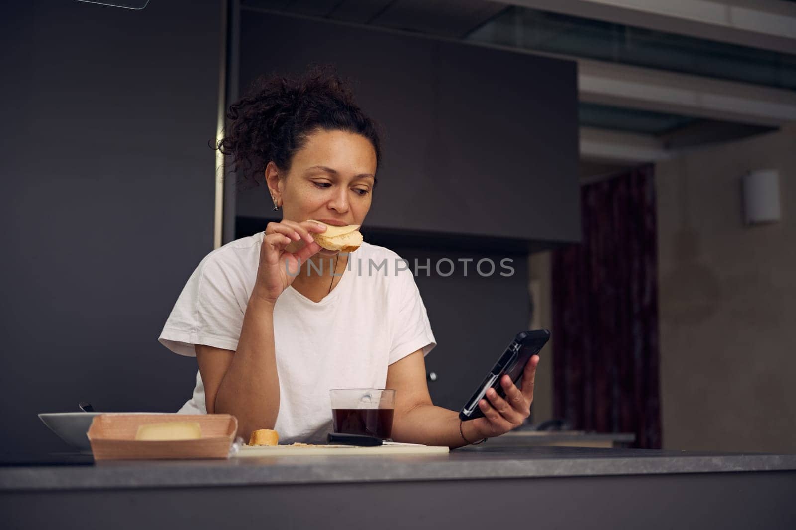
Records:
{"label": "woman's hand holding the slice of bread to her mouth", "polygon": [[[259,251],[259,268],[254,287],[260,298],[275,303],[279,294],[293,283],[302,264],[321,250],[321,246],[312,238],[312,232],[326,232],[326,226],[308,220],[301,223],[291,220],[268,223]],[[304,245],[298,251],[287,251],[287,246],[295,241],[303,241]]]}

